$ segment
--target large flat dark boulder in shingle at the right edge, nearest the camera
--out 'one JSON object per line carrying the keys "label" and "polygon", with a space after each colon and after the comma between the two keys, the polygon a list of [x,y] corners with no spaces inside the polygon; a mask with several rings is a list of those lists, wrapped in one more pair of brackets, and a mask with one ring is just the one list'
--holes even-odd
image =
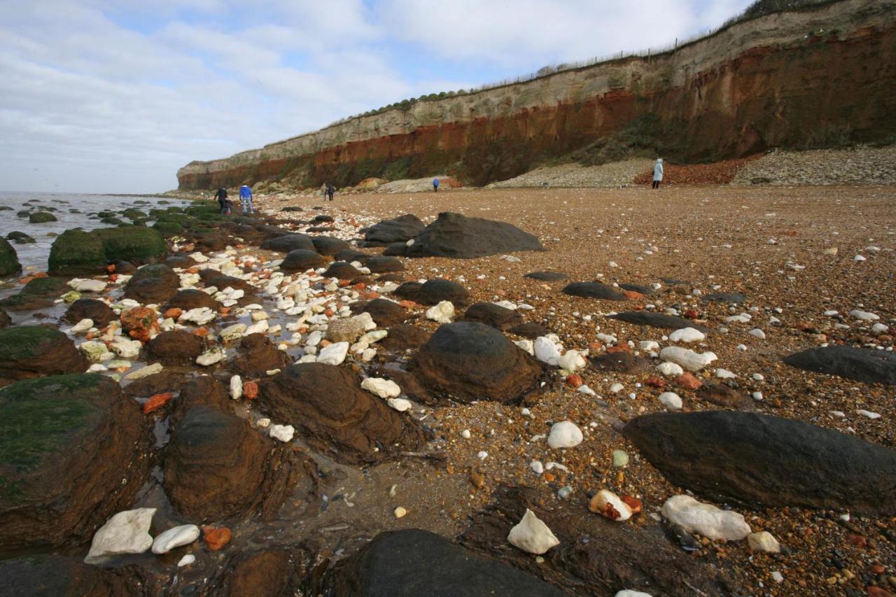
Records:
{"label": "large flat dark boulder in shingle at the right edge, nearest the camera", "polygon": [[839,431],[706,411],[644,415],[623,435],[672,483],[711,499],[896,515],[896,451]]}

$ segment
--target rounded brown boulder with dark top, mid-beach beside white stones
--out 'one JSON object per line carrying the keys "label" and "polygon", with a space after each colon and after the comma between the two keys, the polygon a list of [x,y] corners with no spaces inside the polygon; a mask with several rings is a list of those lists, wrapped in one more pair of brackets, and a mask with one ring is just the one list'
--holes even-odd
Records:
{"label": "rounded brown boulder with dark top, mid-beach beside white stones", "polygon": [[477,322],[445,324],[413,360],[420,383],[461,402],[514,402],[529,391],[541,367],[503,333]]}

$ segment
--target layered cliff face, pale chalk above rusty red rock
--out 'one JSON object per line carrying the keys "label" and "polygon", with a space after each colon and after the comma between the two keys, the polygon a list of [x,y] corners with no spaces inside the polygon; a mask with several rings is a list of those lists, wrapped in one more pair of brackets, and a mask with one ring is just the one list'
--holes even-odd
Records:
{"label": "layered cliff face, pale chalk above rusty red rock", "polygon": [[448,172],[475,185],[627,140],[672,160],[896,135],[896,2],[842,0],[626,58],[358,117],[230,158],[179,188],[289,179],[339,186]]}

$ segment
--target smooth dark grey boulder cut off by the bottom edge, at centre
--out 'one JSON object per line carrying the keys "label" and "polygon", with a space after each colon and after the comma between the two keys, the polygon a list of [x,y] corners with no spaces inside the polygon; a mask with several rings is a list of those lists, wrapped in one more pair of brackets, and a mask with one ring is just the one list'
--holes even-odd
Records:
{"label": "smooth dark grey boulder cut off by the bottom edge, at centre", "polygon": [[342,597],[561,597],[515,567],[422,529],[383,532],[323,578],[319,594]]}

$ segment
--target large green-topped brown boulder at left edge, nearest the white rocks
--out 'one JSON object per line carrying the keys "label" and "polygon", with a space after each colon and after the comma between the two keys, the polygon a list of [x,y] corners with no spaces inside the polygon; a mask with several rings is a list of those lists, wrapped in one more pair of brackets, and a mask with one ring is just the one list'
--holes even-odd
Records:
{"label": "large green-topped brown boulder at left edge, nearest the white rocks", "polygon": [[137,404],[106,376],[48,376],[0,389],[0,544],[89,540],[149,478],[149,444]]}

